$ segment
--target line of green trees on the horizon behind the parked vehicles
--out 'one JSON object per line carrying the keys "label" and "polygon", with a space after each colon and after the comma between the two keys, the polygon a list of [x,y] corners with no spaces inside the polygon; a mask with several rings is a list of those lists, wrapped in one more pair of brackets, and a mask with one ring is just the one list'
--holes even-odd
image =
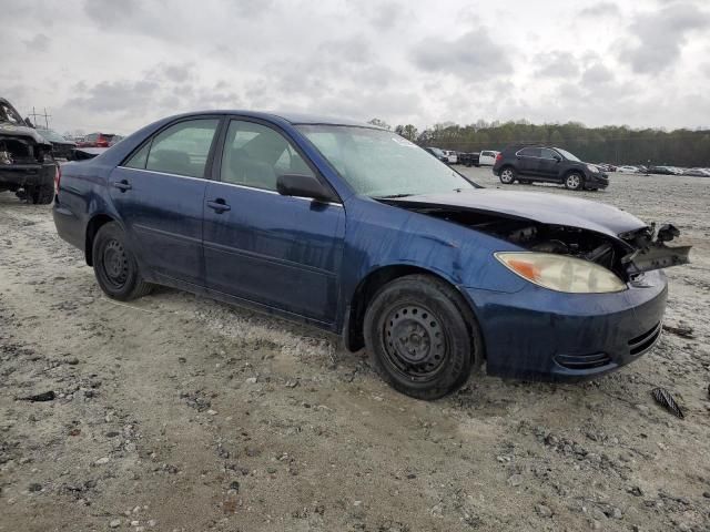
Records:
{"label": "line of green trees on the horizon behind the parked vehicles", "polygon": [[457,152],[501,151],[509,144],[535,143],[561,147],[582,161],[611,164],[710,166],[710,130],[636,130],[626,125],[586,127],[579,122],[531,124],[528,121],[435,124],[424,131],[414,125],[394,129],[379,119],[369,123],[394,130],[422,146]]}

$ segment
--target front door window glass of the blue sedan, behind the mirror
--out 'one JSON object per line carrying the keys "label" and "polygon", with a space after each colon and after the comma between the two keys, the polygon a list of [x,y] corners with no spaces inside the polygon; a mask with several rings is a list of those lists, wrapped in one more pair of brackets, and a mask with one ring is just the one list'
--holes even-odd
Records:
{"label": "front door window glass of the blue sedan, behind the mirror", "polygon": [[313,175],[313,172],[277,131],[233,120],[224,142],[222,181],[276,191],[276,181],[283,174]]}

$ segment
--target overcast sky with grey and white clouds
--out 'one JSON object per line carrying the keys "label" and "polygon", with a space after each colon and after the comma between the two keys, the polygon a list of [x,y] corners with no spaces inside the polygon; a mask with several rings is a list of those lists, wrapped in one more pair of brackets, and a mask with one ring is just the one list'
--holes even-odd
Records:
{"label": "overcast sky with grey and white clouds", "polygon": [[200,109],[710,126],[708,0],[0,3],[0,95],[61,132]]}

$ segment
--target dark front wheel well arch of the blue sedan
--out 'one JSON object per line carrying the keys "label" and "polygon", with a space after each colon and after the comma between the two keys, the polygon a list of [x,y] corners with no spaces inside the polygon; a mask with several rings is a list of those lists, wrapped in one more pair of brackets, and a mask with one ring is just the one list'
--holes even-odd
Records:
{"label": "dark front wheel well arch of the blue sedan", "polygon": [[[456,289],[456,287],[454,287],[447,279],[445,279],[440,275],[435,274],[434,272],[430,272],[426,268],[420,268],[418,266],[384,266],[379,269],[376,269],[375,272],[372,272],[367,277],[361,280],[359,285],[355,289],[355,294],[353,294],[353,298],[351,299],[347,319],[345,323],[346,330],[344,330],[343,335],[345,347],[348,350],[356,351],[365,347],[365,338],[363,334],[365,310],[367,310],[369,301],[372,301],[375,294],[377,294],[377,291],[387,283],[390,283],[399,277],[413,274],[423,274],[436,277],[439,280],[452,286],[454,290],[458,293],[458,289]],[[476,319],[474,311],[464,297],[462,297],[462,313],[464,313],[465,315],[464,318],[466,320],[466,324],[470,324]]]}

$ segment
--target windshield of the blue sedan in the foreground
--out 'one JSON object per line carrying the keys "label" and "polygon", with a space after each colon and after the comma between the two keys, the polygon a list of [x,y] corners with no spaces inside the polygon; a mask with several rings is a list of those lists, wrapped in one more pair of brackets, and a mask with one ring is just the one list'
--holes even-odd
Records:
{"label": "windshield of the blue sedan in the foreground", "polygon": [[475,188],[436,157],[389,131],[342,125],[298,129],[357,194],[402,197]]}

